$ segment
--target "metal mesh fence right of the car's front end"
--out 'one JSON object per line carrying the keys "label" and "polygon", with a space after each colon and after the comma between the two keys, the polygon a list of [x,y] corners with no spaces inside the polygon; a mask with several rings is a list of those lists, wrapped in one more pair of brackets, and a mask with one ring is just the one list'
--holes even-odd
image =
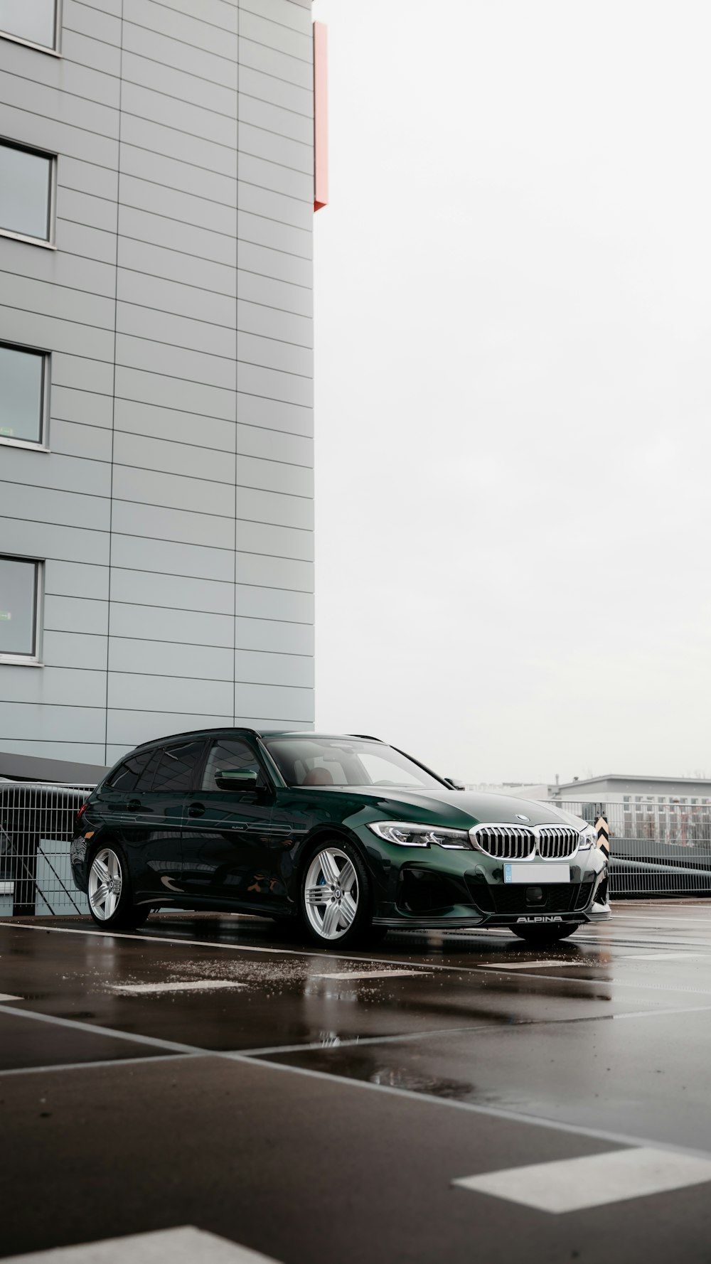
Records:
{"label": "metal mesh fence right of the car's front end", "polygon": [[610,894],[711,895],[711,801],[629,795],[622,803],[555,800],[610,828]]}

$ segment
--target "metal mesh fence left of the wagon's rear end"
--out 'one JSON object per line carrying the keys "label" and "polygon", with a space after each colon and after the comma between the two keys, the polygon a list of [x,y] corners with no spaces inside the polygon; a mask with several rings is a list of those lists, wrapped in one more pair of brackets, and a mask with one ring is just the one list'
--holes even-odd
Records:
{"label": "metal mesh fence left of the wagon's rear end", "polygon": [[0,782],[0,915],[89,913],[70,866],[76,814],[92,786]]}

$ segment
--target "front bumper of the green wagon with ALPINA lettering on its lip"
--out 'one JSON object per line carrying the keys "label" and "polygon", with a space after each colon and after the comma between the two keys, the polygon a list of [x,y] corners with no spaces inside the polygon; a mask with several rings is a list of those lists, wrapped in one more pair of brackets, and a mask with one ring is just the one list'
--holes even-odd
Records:
{"label": "front bumper of the green wagon with ALPINA lettering on its lip", "polygon": [[[576,852],[571,881],[536,886],[505,884],[504,861],[438,846],[414,849],[385,844],[371,862],[380,878],[373,921],[382,927],[452,929],[606,921],[607,857],[598,848]],[[395,853],[395,854],[393,854]],[[536,857],[539,860],[539,857]]]}

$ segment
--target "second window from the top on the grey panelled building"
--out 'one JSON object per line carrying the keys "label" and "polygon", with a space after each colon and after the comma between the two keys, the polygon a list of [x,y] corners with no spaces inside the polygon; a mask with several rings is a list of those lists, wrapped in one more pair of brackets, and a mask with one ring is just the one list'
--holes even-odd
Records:
{"label": "second window from the top on the grey panelled building", "polygon": [[0,142],[0,231],[52,244],[54,159]]}

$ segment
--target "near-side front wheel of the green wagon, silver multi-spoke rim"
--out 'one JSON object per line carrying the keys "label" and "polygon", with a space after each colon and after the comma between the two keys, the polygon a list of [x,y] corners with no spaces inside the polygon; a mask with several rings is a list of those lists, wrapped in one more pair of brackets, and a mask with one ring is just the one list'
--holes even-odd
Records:
{"label": "near-side front wheel of the green wagon, silver multi-spoke rim", "polygon": [[372,934],[372,884],[349,842],[316,844],[301,875],[300,902],[304,925],[316,943],[345,948]]}

